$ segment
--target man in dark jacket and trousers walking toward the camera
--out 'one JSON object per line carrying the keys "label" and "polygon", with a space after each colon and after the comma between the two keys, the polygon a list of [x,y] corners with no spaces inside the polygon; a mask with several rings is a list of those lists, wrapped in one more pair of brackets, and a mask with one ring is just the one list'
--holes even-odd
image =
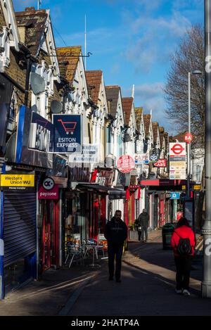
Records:
{"label": "man in dark jacket and trousers walking toward the camera", "polygon": [[115,216],[106,224],[105,237],[108,241],[108,269],[109,281],[113,280],[114,260],[116,255],[116,271],[115,278],[120,283],[121,267],[122,267],[122,250],[124,241],[127,239],[127,226],[121,220],[122,212],[117,210]]}

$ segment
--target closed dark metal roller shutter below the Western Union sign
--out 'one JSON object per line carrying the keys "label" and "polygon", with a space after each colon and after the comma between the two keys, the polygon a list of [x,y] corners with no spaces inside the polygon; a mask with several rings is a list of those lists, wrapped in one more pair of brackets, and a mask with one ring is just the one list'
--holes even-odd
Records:
{"label": "closed dark metal roller shutter below the Western Union sign", "polygon": [[4,267],[36,250],[36,192],[4,193]]}

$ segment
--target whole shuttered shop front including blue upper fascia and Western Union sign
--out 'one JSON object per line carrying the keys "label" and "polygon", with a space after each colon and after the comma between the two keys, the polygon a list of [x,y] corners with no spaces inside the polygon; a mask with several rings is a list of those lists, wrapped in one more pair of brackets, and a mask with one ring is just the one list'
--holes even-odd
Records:
{"label": "whole shuttered shop front including blue upper fascia and Western Union sign", "polygon": [[1,298],[23,281],[37,278],[37,188],[53,165],[46,139],[52,126],[37,114],[43,126],[32,123],[32,113],[20,106],[17,130],[6,145],[6,174],[1,174]]}

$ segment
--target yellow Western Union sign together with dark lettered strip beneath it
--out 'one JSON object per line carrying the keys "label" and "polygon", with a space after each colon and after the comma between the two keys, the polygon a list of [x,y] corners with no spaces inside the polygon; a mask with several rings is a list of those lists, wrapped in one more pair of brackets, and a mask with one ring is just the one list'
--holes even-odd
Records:
{"label": "yellow Western Union sign together with dark lettered strip beneath it", "polygon": [[4,190],[34,190],[34,174],[1,174]]}

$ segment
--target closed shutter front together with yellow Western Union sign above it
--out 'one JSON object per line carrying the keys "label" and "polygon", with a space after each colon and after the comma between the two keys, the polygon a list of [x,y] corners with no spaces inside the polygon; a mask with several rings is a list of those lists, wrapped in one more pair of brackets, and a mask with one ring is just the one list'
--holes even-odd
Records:
{"label": "closed shutter front together with yellow Western Union sign above it", "polygon": [[[1,174],[1,298],[36,277],[37,193],[34,173]],[[2,252],[2,250],[1,250]]]}

